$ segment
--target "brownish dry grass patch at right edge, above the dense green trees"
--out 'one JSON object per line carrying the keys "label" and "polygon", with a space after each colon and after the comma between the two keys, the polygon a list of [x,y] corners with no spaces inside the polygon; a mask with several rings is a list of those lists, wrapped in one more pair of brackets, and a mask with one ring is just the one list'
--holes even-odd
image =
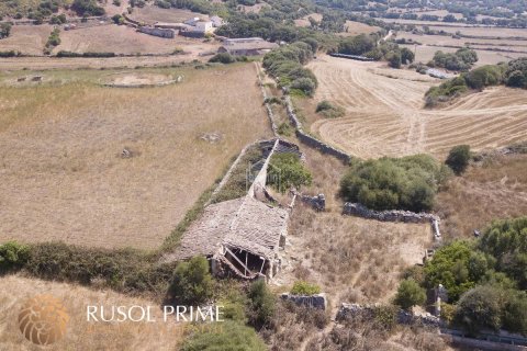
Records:
{"label": "brownish dry grass patch at right edge, above the dense green trees", "polygon": [[526,170],[527,155],[496,156],[451,179],[438,194],[435,208],[445,218],[446,237],[470,237],[493,219],[525,215]]}

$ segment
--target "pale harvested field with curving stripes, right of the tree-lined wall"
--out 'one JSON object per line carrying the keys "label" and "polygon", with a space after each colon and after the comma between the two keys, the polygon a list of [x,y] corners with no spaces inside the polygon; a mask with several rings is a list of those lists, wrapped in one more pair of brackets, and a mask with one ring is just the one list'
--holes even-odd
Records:
{"label": "pale harvested field with curving stripes, right of the tree-lined wall", "polygon": [[319,81],[315,101],[333,101],[346,115],[316,120],[307,114],[311,131],[363,158],[417,152],[444,157],[459,144],[478,150],[525,139],[525,90],[490,88],[448,107],[425,110],[424,94],[439,80],[422,81],[427,78],[415,71],[381,65],[327,56],[312,61],[309,67]]}

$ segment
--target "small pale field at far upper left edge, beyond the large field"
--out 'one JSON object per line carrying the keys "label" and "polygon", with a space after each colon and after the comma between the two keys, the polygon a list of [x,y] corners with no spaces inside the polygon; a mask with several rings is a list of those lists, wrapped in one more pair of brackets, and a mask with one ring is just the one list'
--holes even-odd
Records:
{"label": "small pale field at far upper left edge, beyond the large field", "polygon": [[11,35],[0,41],[0,52],[19,50],[26,55],[42,55],[53,26],[13,25]]}

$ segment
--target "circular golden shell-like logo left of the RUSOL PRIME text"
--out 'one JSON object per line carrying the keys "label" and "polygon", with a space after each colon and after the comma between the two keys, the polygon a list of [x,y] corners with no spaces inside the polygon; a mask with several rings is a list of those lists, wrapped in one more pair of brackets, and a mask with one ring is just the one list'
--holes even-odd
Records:
{"label": "circular golden shell-like logo left of the RUSOL PRIME text", "polygon": [[46,346],[58,341],[66,332],[69,315],[60,301],[49,295],[27,299],[19,314],[19,327],[33,343]]}

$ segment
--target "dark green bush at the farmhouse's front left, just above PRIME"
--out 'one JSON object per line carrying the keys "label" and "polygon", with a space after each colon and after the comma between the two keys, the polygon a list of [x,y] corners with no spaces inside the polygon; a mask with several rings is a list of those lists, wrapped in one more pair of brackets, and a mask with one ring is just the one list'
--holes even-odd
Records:
{"label": "dark green bush at the farmhouse's front left, just above PRIME", "polygon": [[189,262],[176,268],[170,292],[183,304],[201,305],[213,295],[213,281],[209,272],[209,261],[204,257],[193,257]]}

